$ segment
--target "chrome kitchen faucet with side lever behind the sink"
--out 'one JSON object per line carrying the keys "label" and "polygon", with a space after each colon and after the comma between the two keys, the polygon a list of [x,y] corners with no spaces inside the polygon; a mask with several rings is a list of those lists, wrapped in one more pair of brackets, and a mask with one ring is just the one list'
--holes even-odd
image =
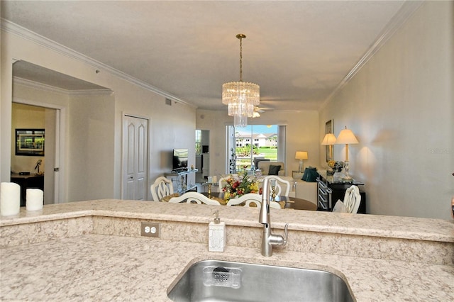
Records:
{"label": "chrome kitchen faucet with side lever behind the sink", "polygon": [[[272,179],[275,180],[275,179]],[[285,237],[282,235],[274,235],[271,233],[271,216],[270,216],[270,192],[268,191],[269,182],[271,180],[265,178],[263,181],[263,191],[262,191],[262,207],[260,208],[260,216],[258,217],[258,222],[263,225],[263,235],[262,235],[262,255],[265,257],[272,256],[272,246],[273,245],[286,245],[287,244],[287,228],[289,224],[287,223],[284,228]]]}

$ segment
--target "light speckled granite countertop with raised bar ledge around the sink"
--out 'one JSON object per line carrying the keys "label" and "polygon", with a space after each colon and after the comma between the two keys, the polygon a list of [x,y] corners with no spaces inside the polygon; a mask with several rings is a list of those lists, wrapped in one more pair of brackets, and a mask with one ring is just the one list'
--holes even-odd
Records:
{"label": "light speckled granite countertop with raised bar ledge around the sink", "polygon": [[[35,212],[21,209],[18,216],[1,217],[0,235],[13,237],[9,232],[16,232],[16,227],[50,220],[94,217],[116,219],[111,221],[199,223],[205,228],[214,208],[220,209],[227,229],[260,228],[255,208],[102,200],[45,206]],[[323,234],[336,233],[372,237],[372,240],[374,237],[376,240],[382,237],[433,240],[445,242],[448,247],[453,247],[454,242],[454,223],[448,220],[272,211],[272,227],[283,228],[284,223],[290,223],[289,229],[294,231],[290,241],[298,240],[295,232],[303,235],[314,232],[322,238]],[[33,232],[40,231],[50,233],[50,230],[33,229]],[[329,245],[334,247],[336,242]],[[215,253],[208,252],[206,242],[99,233],[3,245],[0,251],[1,301],[170,301],[167,290],[175,279],[189,264],[202,259],[324,269],[345,279],[357,301],[454,301],[454,261],[431,264],[289,248],[275,249],[272,257],[262,257],[258,247],[227,244],[225,252]]]}

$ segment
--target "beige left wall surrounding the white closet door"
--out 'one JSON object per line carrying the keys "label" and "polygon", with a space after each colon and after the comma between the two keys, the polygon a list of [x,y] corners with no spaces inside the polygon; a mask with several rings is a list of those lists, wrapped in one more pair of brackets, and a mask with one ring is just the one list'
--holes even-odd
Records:
{"label": "beige left wall surrounding the white closet door", "polygon": [[[175,102],[172,102],[172,106],[165,105],[165,97],[150,89],[102,69],[96,73],[96,67],[92,65],[2,30],[1,181],[10,179],[13,59],[25,60],[114,91],[110,100],[101,98],[95,102],[83,96],[77,99],[43,97],[43,102],[55,102],[67,115],[64,201],[121,197],[121,132],[124,113],[150,120],[149,185],[157,176],[172,168],[171,152],[174,147],[187,147],[191,158],[189,165],[195,164],[195,108]],[[80,132],[80,129],[84,132]],[[99,141],[104,143],[99,145]],[[93,147],[95,144],[98,145]],[[77,149],[79,147],[82,149]]]}

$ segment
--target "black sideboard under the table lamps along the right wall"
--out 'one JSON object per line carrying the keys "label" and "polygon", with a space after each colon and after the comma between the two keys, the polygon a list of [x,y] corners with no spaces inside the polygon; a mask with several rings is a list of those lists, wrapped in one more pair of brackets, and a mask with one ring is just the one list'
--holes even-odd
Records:
{"label": "black sideboard under the table lamps along the right wall", "polygon": [[352,186],[358,186],[360,189],[361,202],[358,208],[358,213],[366,213],[366,194],[361,190],[364,184],[360,181],[352,179],[352,181],[345,182],[336,179],[331,175],[320,174],[317,178],[317,191],[318,191],[318,210],[319,211],[333,211],[336,201],[343,200],[345,191]]}

